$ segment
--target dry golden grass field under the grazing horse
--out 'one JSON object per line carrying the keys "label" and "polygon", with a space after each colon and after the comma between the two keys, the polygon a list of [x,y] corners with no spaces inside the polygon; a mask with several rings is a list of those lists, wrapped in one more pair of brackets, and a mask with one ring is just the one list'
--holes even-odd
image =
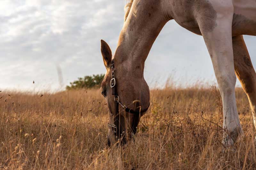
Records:
{"label": "dry golden grass field under the grazing horse", "polygon": [[216,88],[151,90],[134,140],[107,146],[108,108],[97,89],[43,96],[0,93],[0,169],[255,169],[250,106],[236,89],[245,137],[224,148]]}

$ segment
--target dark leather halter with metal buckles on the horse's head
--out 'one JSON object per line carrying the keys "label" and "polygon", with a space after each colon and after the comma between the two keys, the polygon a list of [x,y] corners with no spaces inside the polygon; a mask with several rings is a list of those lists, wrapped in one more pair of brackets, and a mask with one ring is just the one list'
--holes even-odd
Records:
{"label": "dark leather halter with metal buckles on the horse's head", "polygon": [[[112,129],[112,131],[114,132],[115,136],[117,137],[118,136],[118,132],[119,132],[119,135],[120,135],[120,131],[119,131],[119,127],[118,127],[118,122],[119,122],[119,119],[117,118],[117,114],[119,113],[119,105],[122,106],[122,109],[129,113],[129,114],[134,114],[134,119],[133,119],[133,123],[132,123],[132,134],[135,134],[136,131],[137,131],[137,127],[135,129],[133,129],[134,125],[138,125],[139,123],[139,118],[140,118],[140,113],[145,113],[148,108],[149,108],[149,105],[150,103],[148,104],[148,107],[144,110],[132,110],[128,107],[126,107],[125,105],[123,105],[121,102],[120,102],[120,98],[117,94],[117,87],[116,87],[116,75],[115,75],[115,65],[114,65],[114,60],[112,60],[111,62],[111,65],[110,65],[110,73],[111,73],[111,80],[110,80],[110,87],[112,89],[112,95],[114,96],[114,101],[115,101],[115,104],[114,104],[114,113],[111,113],[111,116],[114,116],[114,124],[111,125],[111,124],[108,124],[108,127]],[[120,115],[120,113],[119,113]]]}

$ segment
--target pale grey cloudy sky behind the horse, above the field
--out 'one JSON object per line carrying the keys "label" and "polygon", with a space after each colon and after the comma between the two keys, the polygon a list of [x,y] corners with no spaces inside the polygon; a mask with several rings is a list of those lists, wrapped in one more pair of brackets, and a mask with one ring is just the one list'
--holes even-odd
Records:
{"label": "pale grey cloudy sky behind the horse, above the field", "polygon": [[[1,0],[0,89],[33,89],[35,81],[38,90],[56,90],[77,77],[105,73],[100,39],[115,52],[124,5],[125,0]],[[256,38],[245,40],[256,67]],[[174,21],[165,25],[145,65],[150,87],[168,77],[183,85],[216,82],[203,38]]]}

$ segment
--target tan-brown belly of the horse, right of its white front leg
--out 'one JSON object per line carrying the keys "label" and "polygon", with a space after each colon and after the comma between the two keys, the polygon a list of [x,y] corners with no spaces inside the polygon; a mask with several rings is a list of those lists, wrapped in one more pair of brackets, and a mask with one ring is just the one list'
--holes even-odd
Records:
{"label": "tan-brown belly of the horse, right of its white front leg", "polygon": [[234,0],[232,35],[256,36],[256,1]]}

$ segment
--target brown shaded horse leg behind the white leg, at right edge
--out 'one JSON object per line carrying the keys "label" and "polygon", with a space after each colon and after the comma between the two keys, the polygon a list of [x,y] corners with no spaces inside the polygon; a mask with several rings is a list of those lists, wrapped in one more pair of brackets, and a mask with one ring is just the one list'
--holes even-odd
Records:
{"label": "brown shaded horse leg behind the white leg, at right edge", "polygon": [[243,36],[233,37],[232,40],[236,76],[241,82],[244,92],[249,99],[256,129],[256,73],[252,66],[252,61]]}

